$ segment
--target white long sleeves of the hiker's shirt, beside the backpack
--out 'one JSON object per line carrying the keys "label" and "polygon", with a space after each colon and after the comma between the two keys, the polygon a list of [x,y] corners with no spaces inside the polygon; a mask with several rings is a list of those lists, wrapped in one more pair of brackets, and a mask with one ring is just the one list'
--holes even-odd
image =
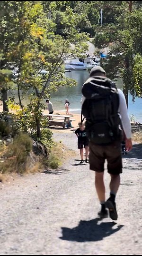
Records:
{"label": "white long sleeves of the hiker's shirt, beside the backpack", "polygon": [[[119,108],[118,108],[118,113],[120,114],[121,117],[121,122],[122,126],[124,129],[124,133],[126,138],[131,138],[132,137],[132,131],[131,131],[131,123],[130,123],[130,118],[128,116],[128,109],[127,109],[127,104],[126,100],[124,97],[124,93],[121,89],[118,90],[118,95],[119,95]],[[83,104],[85,100],[85,97],[82,96],[81,98],[81,104]]]}

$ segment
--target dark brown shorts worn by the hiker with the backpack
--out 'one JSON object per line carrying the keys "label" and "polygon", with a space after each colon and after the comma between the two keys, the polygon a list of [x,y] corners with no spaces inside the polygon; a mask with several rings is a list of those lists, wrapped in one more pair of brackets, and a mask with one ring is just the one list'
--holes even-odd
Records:
{"label": "dark brown shorts worn by the hiker with the backpack", "polygon": [[122,173],[121,142],[115,141],[109,145],[97,145],[89,142],[90,170],[104,171],[104,163],[107,159],[108,173],[118,175]]}

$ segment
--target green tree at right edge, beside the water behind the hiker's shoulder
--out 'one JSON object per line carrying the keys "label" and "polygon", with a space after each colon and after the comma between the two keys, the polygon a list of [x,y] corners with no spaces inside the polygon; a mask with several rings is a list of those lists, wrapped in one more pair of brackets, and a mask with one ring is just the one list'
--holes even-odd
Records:
{"label": "green tree at right edge, beside the water behind the hiker's shoulder", "polygon": [[[132,1],[119,4],[116,1],[111,9],[113,22],[105,23],[102,28],[98,26],[95,38],[96,46],[109,46],[111,49],[103,65],[111,78],[122,77],[127,101],[128,91],[133,95],[133,100],[135,96],[142,96],[142,79],[138,75],[141,74],[142,63],[142,9],[140,5],[136,8],[138,6],[135,2],[131,11],[131,4]],[[114,16],[114,10],[118,8],[118,16]]]}

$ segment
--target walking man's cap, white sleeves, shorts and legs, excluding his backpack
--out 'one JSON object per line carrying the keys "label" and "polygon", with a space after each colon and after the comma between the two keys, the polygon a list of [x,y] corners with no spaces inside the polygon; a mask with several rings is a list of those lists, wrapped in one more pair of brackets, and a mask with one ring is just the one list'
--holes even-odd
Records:
{"label": "walking man's cap, white sleeves, shorts and legs, excluding his backpack", "polygon": [[[102,67],[94,67],[91,69],[90,78],[106,77],[106,71]],[[83,87],[82,87],[83,88]],[[128,116],[128,110],[124,93],[121,89],[118,90],[119,108],[123,130],[125,133],[125,148],[131,150],[132,134],[131,123]],[[85,97],[82,96],[81,104],[83,104]],[[110,197],[105,199],[105,184],[104,184],[104,163],[107,159],[107,169],[110,174]],[[107,209],[111,219],[117,219],[117,211],[115,205],[115,195],[120,185],[120,173],[122,173],[122,154],[121,154],[121,141],[115,141],[109,145],[98,145],[89,141],[89,166],[90,169],[95,171],[95,187],[98,194],[98,199],[101,204],[101,210],[98,212],[99,217],[107,217]]]}

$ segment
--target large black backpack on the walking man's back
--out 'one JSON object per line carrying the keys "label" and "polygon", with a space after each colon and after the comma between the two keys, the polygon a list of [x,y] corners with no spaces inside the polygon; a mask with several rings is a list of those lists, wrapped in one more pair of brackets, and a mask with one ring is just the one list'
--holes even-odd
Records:
{"label": "large black backpack on the walking man's back", "polygon": [[115,83],[105,77],[89,78],[82,86],[82,94],[85,100],[81,121],[83,115],[89,140],[100,145],[121,140],[119,95]]}

